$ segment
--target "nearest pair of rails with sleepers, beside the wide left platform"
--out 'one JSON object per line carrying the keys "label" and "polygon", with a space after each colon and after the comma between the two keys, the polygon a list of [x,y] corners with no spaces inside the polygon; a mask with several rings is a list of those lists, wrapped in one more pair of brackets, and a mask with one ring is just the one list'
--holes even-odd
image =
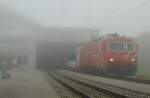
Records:
{"label": "nearest pair of rails with sleepers, beside the wide left platform", "polygon": [[[60,73],[54,73],[54,72],[52,73],[48,72],[48,73],[53,79],[55,79],[64,87],[69,89],[69,91],[74,93],[73,95],[76,95],[79,98],[125,98],[124,96],[112,94],[111,92],[106,92],[102,89],[98,90],[92,85],[87,85],[86,83],[73,80]],[[65,96],[64,98],[77,98],[77,97],[69,95],[69,96]]]}

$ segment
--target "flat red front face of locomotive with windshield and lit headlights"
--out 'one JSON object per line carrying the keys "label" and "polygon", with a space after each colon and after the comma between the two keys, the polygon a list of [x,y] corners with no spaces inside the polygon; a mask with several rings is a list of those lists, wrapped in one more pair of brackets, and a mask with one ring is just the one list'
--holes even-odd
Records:
{"label": "flat red front face of locomotive with windshield and lit headlights", "polygon": [[133,75],[137,69],[137,43],[118,37],[107,41],[106,62],[110,72]]}

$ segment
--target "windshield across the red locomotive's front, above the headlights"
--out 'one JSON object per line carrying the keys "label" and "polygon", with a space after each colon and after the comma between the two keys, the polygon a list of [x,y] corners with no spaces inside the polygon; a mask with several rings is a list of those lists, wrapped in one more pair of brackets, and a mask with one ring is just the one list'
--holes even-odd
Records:
{"label": "windshield across the red locomotive's front, above the headlights", "polygon": [[111,42],[109,43],[109,49],[111,51],[133,51],[134,46],[133,43],[119,43],[119,42]]}

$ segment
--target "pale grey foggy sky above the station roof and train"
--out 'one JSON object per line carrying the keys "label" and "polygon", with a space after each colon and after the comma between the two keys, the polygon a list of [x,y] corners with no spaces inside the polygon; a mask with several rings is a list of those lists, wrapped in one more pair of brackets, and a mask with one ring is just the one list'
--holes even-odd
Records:
{"label": "pale grey foggy sky above the station roof and train", "polygon": [[150,0],[0,0],[49,27],[92,27],[137,36],[150,31]]}

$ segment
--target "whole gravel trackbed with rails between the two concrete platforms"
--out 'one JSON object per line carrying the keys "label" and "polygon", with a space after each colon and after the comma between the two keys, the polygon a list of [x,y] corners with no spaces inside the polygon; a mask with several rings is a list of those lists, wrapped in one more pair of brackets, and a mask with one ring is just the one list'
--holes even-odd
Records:
{"label": "whole gravel trackbed with rails between the two concrete platforms", "polygon": [[[47,72],[55,81],[80,98],[150,98],[149,94],[91,81],[63,72]],[[68,96],[70,98],[70,96]],[[68,98],[67,97],[67,98]],[[66,98],[66,96],[65,96]]]}

